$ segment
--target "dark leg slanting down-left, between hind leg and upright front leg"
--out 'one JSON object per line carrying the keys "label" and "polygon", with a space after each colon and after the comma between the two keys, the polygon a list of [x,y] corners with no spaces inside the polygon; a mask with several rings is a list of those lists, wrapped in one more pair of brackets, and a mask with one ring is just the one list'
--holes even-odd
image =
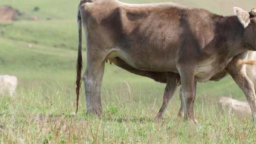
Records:
{"label": "dark leg slanting down-left, between hind leg and upright front leg", "polygon": [[180,83],[180,75],[178,73],[167,72],[166,79],[167,79],[167,83],[166,83],[165,93],[163,97],[163,104],[155,117],[155,122],[160,122],[164,117],[166,108],[170,100],[172,99],[177,86]]}

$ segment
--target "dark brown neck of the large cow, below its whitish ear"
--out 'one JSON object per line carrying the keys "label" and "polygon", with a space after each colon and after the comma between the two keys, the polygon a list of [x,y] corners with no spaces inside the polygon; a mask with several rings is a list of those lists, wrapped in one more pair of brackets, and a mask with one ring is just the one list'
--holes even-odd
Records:
{"label": "dark brown neck of the large cow, below its whitish ear", "polygon": [[228,50],[227,56],[233,57],[247,51],[243,42],[244,31],[245,28],[236,16],[219,18],[216,33]]}

